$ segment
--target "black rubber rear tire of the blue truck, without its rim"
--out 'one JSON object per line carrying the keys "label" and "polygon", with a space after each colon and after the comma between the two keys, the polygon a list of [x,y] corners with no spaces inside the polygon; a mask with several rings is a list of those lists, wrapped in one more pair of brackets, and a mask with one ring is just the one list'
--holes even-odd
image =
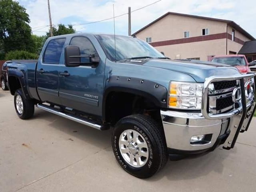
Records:
{"label": "black rubber rear tire of the blue truck, without its rim", "polygon": [[[20,96],[22,99],[22,103],[23,103],[23,112],[22,113],[19,113],[17,110],[17,107],[16,107],[16,97],[17,96]],[[33,100],[26,99],[22,90],[18,89],[18,90],[16,90],[16,92],[14,94],[14,108],[15,108],[16,113],[19,116],[19,118],[29,119],[34,115],[35,104],[34,104]]]}

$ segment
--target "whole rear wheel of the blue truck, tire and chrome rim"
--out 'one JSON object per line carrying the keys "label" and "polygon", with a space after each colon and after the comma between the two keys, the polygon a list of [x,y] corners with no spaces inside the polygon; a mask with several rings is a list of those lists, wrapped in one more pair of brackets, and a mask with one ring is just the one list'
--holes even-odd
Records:
{"label": "whole rear wheel of the blue truck, tire and chrome rim", "polygon": [[16,90],[14,94],[14,107],[21,119],[29,119],[34,115],[34,102],[26,99],[21,89]]}

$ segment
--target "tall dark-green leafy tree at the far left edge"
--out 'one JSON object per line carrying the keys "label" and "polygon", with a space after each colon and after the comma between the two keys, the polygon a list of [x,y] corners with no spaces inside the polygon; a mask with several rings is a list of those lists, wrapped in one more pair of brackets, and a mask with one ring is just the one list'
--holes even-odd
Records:
{"label": "tall dark-green leafy tree at the far left edge", "polygon": [[10,50],[36,51],[29,22],[26,9],[18,2],[0,0],[0,41],[3,42],[4,52]]}

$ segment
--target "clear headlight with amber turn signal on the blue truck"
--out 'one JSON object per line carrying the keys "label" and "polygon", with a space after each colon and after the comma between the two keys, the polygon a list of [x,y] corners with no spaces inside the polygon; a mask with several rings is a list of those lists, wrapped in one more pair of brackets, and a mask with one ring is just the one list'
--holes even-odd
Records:
{"label": "clear headlight with amber turn signal on the blue truck", "polygon": [[200,110],[203,83],[170,82],[169,108]]}

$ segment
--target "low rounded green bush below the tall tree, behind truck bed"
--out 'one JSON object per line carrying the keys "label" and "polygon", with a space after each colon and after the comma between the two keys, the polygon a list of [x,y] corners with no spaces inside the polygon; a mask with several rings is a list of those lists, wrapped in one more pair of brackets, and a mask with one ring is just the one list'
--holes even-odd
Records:
{"label": "low rounded green bush below the tall tree, behind truck bed", "polygon": [[12,60],[12,59],[38,59],[38,54],[31,53],[24,50],[16,50],[10,51],[6,54],[5,60]]}

